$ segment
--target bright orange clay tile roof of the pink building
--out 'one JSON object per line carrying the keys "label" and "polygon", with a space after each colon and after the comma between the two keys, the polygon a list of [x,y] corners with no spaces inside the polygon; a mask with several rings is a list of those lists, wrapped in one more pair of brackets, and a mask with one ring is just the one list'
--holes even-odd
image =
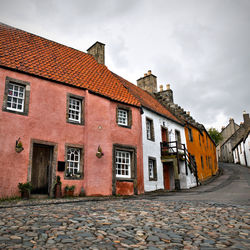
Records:
{"label": "bright orange clay tile roof of the pink building", "polygon": [[0,66],[82,87],[112,100],[140,106],[93,56],[0,23]]}

